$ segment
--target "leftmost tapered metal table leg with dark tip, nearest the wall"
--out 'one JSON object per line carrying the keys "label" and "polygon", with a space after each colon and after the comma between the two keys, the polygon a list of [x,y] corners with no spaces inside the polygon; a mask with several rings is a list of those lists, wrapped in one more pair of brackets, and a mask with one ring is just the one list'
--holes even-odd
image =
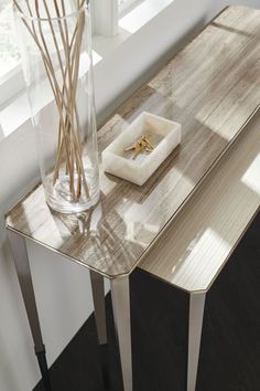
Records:
{"label": "leftmost tapered metal table leg with dark tip, nearest the wall", "polygon": [[37,307],[35,302],[35,295],[32,283],[32,275],[30,270],[30,263],[28,258],[28,251],[25,239],[13,231],[8,230],[8,236],[11,244],[14,265],[18,274],[19,284],[21,287],[24,306],[28,314],[28,320],[30,324],[34,350],[37,357],[40,371],[43,379],[44,389],[51,391],[51,380],[47,370],[46,352],[42,339],[41,326],[37,315]]}

